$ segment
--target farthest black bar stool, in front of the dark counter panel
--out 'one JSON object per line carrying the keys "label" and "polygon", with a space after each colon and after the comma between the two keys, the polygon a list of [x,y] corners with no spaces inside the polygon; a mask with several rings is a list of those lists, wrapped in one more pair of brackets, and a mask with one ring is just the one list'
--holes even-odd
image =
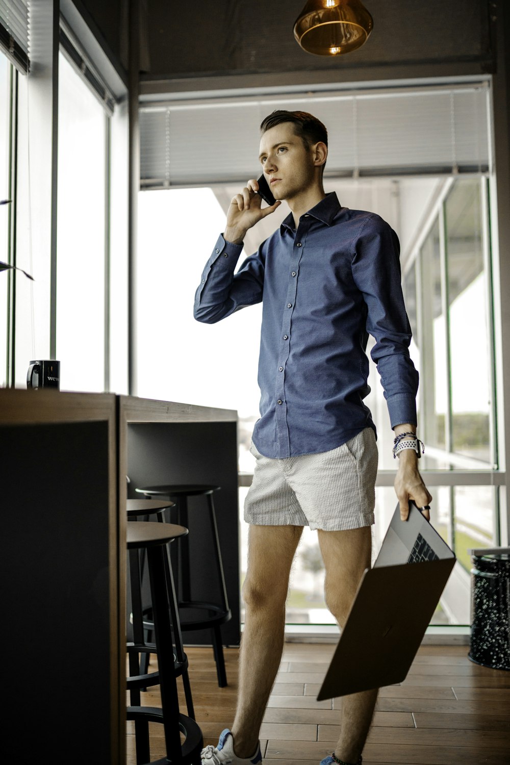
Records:
{"label": "farthest black bar stool, in front of the dark counter panel", "polygon": [[[219,688],[227,685],[225,659],[223,656],[223,640],[220,626],[232,618],[229,601],[226,594],[225,575],[223,574],[223,562],[219,549],[218,527],[216,526],[216,513],[214,511],[213,492],[219,490],[219,486],[203,484],[164,484],[161,486],[140,487],[136,491],[149,497],[167,496],[172,500],[177,509],[177,523],[187,527],[188,520],[188,497],[204,496],[207,509],[209,510],[211,538],[213,542],[213,554],[216,562],[217,583],[219,588],[219,603],[194,600],[190,587],[190,549],[186,538],[179,540],[177,549],[177,584],[179,585],[180,597],[179,613],[180,628],[184,631],[211,630],[214,659],[216,662],[216,675]],[[187,616],[198,612],[199,617]],[[150,614],[145,620],[145,626],[151,629]]]}

